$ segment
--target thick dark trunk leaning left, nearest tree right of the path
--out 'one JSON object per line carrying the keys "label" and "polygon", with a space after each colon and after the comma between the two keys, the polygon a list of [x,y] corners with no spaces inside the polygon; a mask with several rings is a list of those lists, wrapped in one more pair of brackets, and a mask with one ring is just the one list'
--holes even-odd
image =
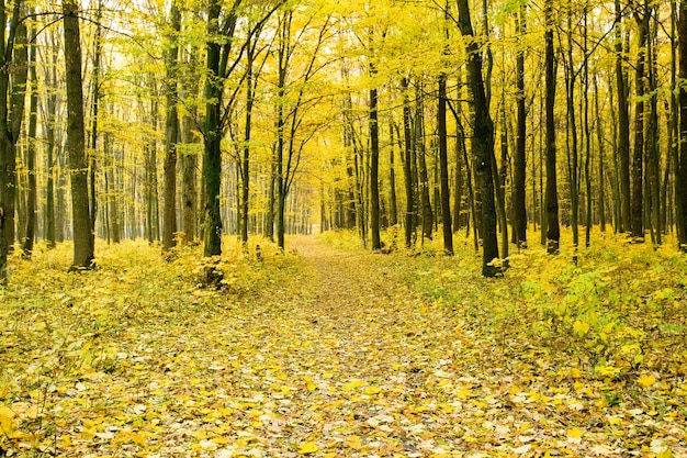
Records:
{"label": "thick dark trunk leaning left, nearest tree right of the path", "polygon": [[474,40],[470,7],[468,0],[458,0],[458,25],[466,37],[465,51],[468,54],[468,81],[472,92],[474,107],[473,155],[476,172],[480,179],[480,194],[482,199],[482,236],[483,256],[482,275],[495,277],[499,272],[494,264],[498,259],[498,241],[496,236],[496,205],[494,202],[494,178],[492,157],[494,156],[494,122],[489,114],[488,102],[484,92],[482,79],[482,56]]}

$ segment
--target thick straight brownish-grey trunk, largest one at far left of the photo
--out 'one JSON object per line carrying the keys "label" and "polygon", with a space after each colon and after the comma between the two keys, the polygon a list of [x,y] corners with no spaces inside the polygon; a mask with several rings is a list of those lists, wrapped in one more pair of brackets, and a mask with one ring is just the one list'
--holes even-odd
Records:
{"label": "thick straight brownish-grey trunk, largest one at far left of the photo", "polygon": [[88,201],[88,161],[83,130],[83,92],[81,86],[81,38],[79,8],[76,0],[65,0],[65,71],[67,81],[67,152],[71,176],[71,213],[74,225],[72,268],[87,269],[93,262],[93,232]]}

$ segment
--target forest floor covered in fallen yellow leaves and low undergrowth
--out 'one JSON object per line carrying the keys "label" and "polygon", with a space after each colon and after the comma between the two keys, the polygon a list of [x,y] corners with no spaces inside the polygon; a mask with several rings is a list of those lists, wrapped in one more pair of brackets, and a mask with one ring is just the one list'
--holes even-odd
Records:
{"label": "forest floor covered in fallen yellow leaves and low undergrowth", "polygon": [[[0,456],[687,456],[687,266],[597,237],[504,278],[345,235],[16,255],[0,291]],[[229,243],[225,244],[230,245]]]}

